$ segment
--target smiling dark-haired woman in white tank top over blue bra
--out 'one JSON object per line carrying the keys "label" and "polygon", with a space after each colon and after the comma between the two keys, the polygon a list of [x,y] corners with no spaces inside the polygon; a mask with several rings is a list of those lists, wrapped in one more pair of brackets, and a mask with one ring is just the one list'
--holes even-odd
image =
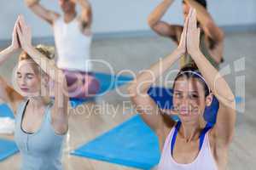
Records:
{"label": "smiling dark-haired woman in white tank top over blue bra", "polygon": [[[195,9],[190,9],[177,49],[142,71],[128,88],[143,121],[159,139],[160,170],[227,167],[228,150],[235,131],[235,97],[224,77],[201,53],[199,42]],[[160,110],[148,95],[148,89],[186,53],[191,55],[198,69],[195,65],[186,65],[179,71],[173,82],[173,109]],[[208,126],[203,113],[211,105],[213,94],[219,101],[218,117],[214,126]],[[170,115],[179,116],[180,121],[172,121]]]}

